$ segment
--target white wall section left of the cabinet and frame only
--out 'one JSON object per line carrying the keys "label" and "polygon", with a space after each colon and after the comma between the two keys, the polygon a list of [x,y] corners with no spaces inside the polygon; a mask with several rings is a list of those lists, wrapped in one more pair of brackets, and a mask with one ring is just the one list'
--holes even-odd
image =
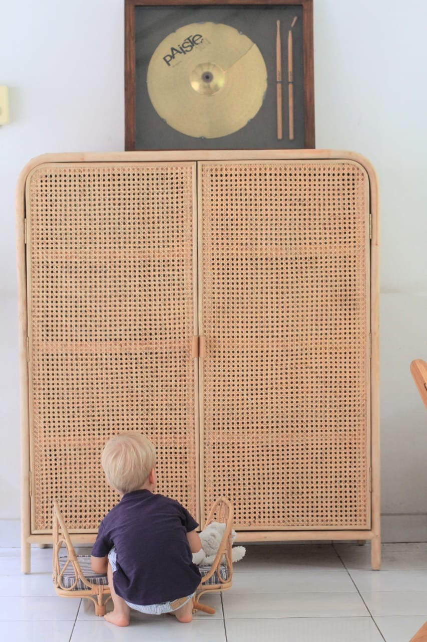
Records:
{"label": "white wall section left of the cabinet and frame only", "polygon": [[0,13],[0,517],[19,517],[15,184],[45,152],[124,149],[124,0],[21,0]]}

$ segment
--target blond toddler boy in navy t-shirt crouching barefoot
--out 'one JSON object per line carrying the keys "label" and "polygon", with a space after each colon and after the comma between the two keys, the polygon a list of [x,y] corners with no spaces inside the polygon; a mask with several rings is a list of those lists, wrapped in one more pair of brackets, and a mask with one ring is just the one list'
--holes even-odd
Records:
{"label": "blond toddler boy in navy t-shirt crouching barefoot", "polygon": [[192,620],[192,596],[201,575],[192,553],[201,549],[188,510],[156,489],[156,452],[139,433],[107,442],[102,457],[108,483],[121,500],[99,525],[92,569],[107,573],[114,609],[105,619],[129,624],[130,609]]}

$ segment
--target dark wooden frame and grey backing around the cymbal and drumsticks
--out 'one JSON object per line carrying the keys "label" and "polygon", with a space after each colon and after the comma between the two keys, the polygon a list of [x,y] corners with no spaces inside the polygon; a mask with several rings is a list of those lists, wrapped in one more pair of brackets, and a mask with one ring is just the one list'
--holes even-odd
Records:
{"label": "dark wooden frame and grey backing around the cymbal and drumsticks", "polygon": [[[125,3],[126,151],[314,148],[313,0],[125,0]],[[246,33],[260,48],[268,63],[268,86],[262,108],[253,121],[248,121],[247,125],[230,135],[199,138],[177,132],[158,116],[147,92],[147,67],[156,46],[183,24],[225,22],[212,19],[212,15],[232,15],[232,21],[226,18],[227,24],[233,22],[231,26]],[[266,26],[263,26],[264,16],[269,20],[267,37]],[[163,20],[165,17],[167,19]],[[241,29],[239,17],[242,19]],[[285,17],[285,20],[276,21],[276,17]],[[276,22],[278,31],[280,23],[284,25],[279,45],[275,32]],[[289,71],[289,64],[292,65],[292,54],[288,55],[289,38],[292,36],[288,34],[294,25],[292,33],[295,33],[293,42],[296,62]],[[258,35],[256,29],[259,31],[258,41],[253,36],[253,33]],[[277,53],[278,46],[280,56]],[[279,66],[278,60],[281,60]],[[283,116],[281,137],[281,124],[276,116],[280,113],[279,105],[283,105],[283,113],[287,113],[287,116]],[[289,130],[286,130],[285,135],[288,116]],[[280,116],[280,120],[281,118]],[[277,131],[273,134],[276,119]]]}

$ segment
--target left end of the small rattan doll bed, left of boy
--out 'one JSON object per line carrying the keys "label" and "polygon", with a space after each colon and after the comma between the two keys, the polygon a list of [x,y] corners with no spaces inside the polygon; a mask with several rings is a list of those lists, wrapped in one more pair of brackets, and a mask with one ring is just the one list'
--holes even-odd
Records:
{"label": "left end of the small rattan doll bed, left of boy", "polygon": [[[65,555],[62,555],[63,552]],[[52,577],[58,595],[89,598],[95,604],[95,614],[105,615],[105,604],[111,598],[107,576],[92,571],[90,555],[76,555],[56,499],[53,502]]]}

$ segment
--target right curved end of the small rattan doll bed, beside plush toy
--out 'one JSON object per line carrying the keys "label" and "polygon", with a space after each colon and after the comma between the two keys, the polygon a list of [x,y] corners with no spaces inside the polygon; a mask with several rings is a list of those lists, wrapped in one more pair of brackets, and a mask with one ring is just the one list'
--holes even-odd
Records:
{"label": "right curved end of the small rattan doll bed, beside plush toy", "polygon": [[233,578],[233,559],[231,557],[231,546],[233,545],[233,506],[223,497],[217,499],[206,519],[205,528],[211,522],[217,521],[225,524],[224,535],[212,566],[201,566],[201,583],[197,589],[196,597],[193,600],[194,610],[204,611],[213,614],[215,609],[199,602],[199,598],[205,593],[225,591],[230,589]]}

